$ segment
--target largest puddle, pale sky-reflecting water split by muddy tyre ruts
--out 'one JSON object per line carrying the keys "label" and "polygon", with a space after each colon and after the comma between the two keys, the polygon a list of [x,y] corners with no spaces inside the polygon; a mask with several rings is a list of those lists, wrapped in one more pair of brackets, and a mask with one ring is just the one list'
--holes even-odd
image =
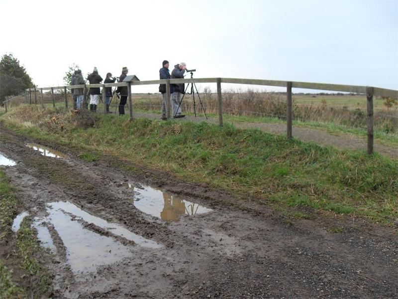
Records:
{"label": "largest puddle, pale sky-reflecting water split by muddy tyre ruts", "polygon": [[[48,203],[47,213],[46,217],[35,217],[32,227],[37,229],[42,246],[56,251],[47,225],[54,227],[62,239],[68,264],[75,274],[94,272],[100,266],[111,265],[133,256],[131,246],[123,245],[111,235],[103,236],[86,228],[85,224],[87,223],[133,241],[141,247],[152,249],[162,247],[155,241],[134,234],[121,225],[93,216],[71,202]],[[19,225],[26,215],[28,214],[24,212],[15,218],[14,231],[19,229]]]}

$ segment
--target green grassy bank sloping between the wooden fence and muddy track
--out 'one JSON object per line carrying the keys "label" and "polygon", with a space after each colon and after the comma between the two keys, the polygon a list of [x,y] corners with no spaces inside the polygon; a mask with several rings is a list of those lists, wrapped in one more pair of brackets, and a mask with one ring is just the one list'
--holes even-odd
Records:
{"label": "green grassy bank sloping between the wooden fence and muddy track", "polygon": [[[307,206],[392,224],[397,217],[397,161],[364,151],[324,148],[259,130],[207,123],[93,116],[84,129],[64,109],[18,108],[0,119],[31,138],[171,172],[186,181],[247,194],[305,217]],[[83,122],[84,123],[84,122]],[[60,129],[62,127],[62,130]]]}

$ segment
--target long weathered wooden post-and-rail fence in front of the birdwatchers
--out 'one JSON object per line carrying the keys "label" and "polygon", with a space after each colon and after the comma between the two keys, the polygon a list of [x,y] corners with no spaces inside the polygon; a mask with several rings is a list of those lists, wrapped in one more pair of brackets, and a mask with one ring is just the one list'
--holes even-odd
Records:
{"label": "long weathered wooden post-and-rail fence in front of the birdwatchers", "polygon": [[[44,108],[43,91],[51,91],[52,104],[55,107],[55,90],[61,90],[65,98],[65,107],[69,107],[68,103],[68,90],[83,88],[84,90],[84,103],[87,103],[87,91],[89,88],[102,88],[102,101],[105,102],[105,88],[106,87],[120,87],[127,86],[128,88],[128,107],[130,120],[133,119],[133,106],[131,90],[132,86],[135,85],[154,85],[154,84],[166,84],[166,115],[167,119],[171,119],[171,94],[170,84],[182,84],[182,83],[216,83],[217,84],[217,101],[218,101],[218,124],[223,125],[223,111],[222,111],[222,94],[221,94],[221,83],[229,84],[246,84],[246,85],[261,85],[261,86],[277,86],[286,87],[287,91],[287,137],[293,137],[293,101],[292,101],[292,89],[313,89],[313,90],[325,90],[325,91],[336,91],[336,92],[349,92],[357,94],[365,94],[367,98],[367,151],[369,154],[373,153],[374,145],[374,111],[373,111],[373,100],[374,97],[391,97],[398,99],[398,91],[370,87],[370,86],[355,86],[355,85],[337,85],[337,84],[325,84],[325,83],[309,83],[309,82],[294,82],[294,81],[276,81],[276,80],[259,80],[259,79],[238,79],[238,78],[198,78],[198,79],[167,79],[167,80],[151,80],[151,81],[133,81],[133,82],[121,82],[121,83],[107,83],[107,84],[85,84],[85,85],[72,85],[72,86],[55,86],[55,87],[42,87],[42,88],[31,88],[25,90],[24,103],[27,104],[38,104],[37,92],[40,91],[40,104]],[[34,100],[32,99],[32,93],[34,93]],[[4,101],[5,112],[7,112],[7,103],[13,99]],[[103,106],[103,113],[106,114],[106,107]]]}

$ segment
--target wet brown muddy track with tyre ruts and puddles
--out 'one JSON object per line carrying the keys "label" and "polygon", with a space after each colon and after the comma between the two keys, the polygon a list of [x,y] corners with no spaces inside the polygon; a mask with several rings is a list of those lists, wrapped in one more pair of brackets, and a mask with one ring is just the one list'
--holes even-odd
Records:
{"label": "wet brown muddy track with tyre ruts and puddles", "polygon": [[[4,169],[18,212],[51,236],[40,259],[53,298],[397,298],[392,228],[320,212],[292,223],[244,196],[55,144],[41,143],[67,158],[43,156],[31,142],[0,127],[0,152],[17,162]],[[145,186],[212,211],[163,221],[131,200]]]}

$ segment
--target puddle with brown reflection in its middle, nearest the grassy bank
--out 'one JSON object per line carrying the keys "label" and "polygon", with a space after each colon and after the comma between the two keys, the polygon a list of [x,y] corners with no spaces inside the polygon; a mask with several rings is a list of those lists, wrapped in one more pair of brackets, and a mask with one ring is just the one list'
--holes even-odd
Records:
{"label": "puddle with brown reflection in its middle, nearest the grassy bank", "polygon": [[164,221],[179,221],[182,215],[193,216],[212,211],[198,203],[187,201],[149,186],[143,186],[143,189],[139,189],[132,187],[129,183],[122,185],[134,189],[134,206],[137,209]]}

